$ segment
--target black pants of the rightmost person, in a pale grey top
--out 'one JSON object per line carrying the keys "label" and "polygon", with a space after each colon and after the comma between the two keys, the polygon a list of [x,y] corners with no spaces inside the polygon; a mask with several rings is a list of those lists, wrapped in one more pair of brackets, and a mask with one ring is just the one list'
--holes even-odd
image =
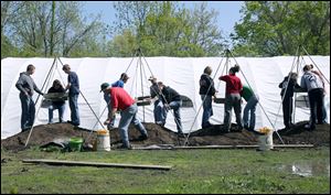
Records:
{"label": "black pants of the rightmost person, in a pale grey top", "polygon": [[323,89],[311,89],[308,91],[308,97],[310,106],[310,129],[314,129],[316,118],[319,123],[323,121]]}

